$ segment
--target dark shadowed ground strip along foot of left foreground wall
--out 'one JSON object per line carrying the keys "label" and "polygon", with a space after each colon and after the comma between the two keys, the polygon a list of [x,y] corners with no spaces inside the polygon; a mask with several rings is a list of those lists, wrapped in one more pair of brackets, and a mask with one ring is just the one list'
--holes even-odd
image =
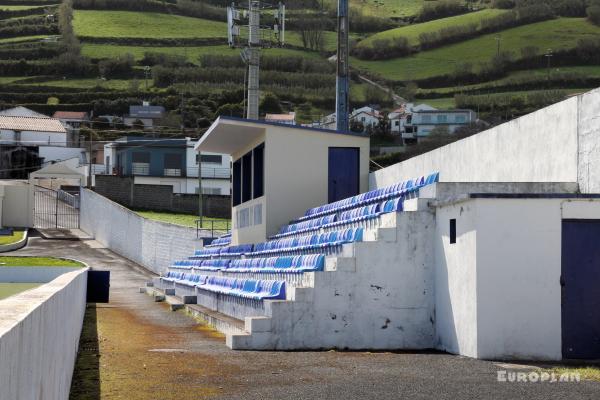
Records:
{"label": "dark shadowed ground strip along foot of left foreground wall", "polygon": [[73,371],[70,400],[100,400],[100,344],[96,304],[88,304]]}

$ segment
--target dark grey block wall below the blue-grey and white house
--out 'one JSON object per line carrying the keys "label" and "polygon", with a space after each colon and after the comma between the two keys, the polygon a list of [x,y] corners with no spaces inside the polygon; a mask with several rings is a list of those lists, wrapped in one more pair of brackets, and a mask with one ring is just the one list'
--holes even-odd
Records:
{"label": "dark grey block wall below the blue-grey and white house", "polygon": [[[140,185],[134,184],[133,178],[96,175],[95,191],[128,208],[198,213],[197,194],[175,194],[169,185]],[[205,194],[202,210],[204,216],[229,219],[231,197]]]}

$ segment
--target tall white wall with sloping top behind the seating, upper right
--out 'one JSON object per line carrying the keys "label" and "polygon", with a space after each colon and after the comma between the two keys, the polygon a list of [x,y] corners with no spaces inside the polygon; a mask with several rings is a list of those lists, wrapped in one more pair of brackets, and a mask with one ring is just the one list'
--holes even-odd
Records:
{"label": "tall white wall with sloping top behind the seating, upper right", "polygon": [[381,169],[371,174],[370,187],[434,171],[440,172],[441,182],[577,182],[578,104],[599,97],[595,91],[570,98]]}

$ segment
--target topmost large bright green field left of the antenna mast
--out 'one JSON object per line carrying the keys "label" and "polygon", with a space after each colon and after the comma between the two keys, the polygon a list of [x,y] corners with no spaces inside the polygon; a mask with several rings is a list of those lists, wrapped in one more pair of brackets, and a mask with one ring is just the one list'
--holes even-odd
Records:
{"label": "topmost large bright green field left of the antenna mast", "polygon": [[73,28],[77,35],[89,37],[227,37],[226,22],[133,11],[76,10]]}

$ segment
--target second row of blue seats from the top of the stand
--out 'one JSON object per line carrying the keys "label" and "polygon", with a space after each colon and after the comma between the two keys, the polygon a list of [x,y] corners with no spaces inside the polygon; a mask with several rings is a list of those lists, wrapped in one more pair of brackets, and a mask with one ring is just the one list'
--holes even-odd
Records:
{"label": "second row of blue seats from the top of the stand", "polygon": [[[381,214],[400,212],[403,209],[403,204],[404,197],[397,197],[395,199],[386,200],[382,203],[375,203],[348,211],[342,211],[339,214],[331,214],[305,222],[298,222],[296,224],[288,225],[288,227],[291,227],[291,229],[286,230],[284,233],[274,235],[271,237],[271,239],[297,236],[320,229],[330,229],[342,225],[356,224],[362,221],[377,218]],[[298,226],[300,226],[301,229],[298,229]],[[306,226],[306,228],[303,228],[304,226]]]}

